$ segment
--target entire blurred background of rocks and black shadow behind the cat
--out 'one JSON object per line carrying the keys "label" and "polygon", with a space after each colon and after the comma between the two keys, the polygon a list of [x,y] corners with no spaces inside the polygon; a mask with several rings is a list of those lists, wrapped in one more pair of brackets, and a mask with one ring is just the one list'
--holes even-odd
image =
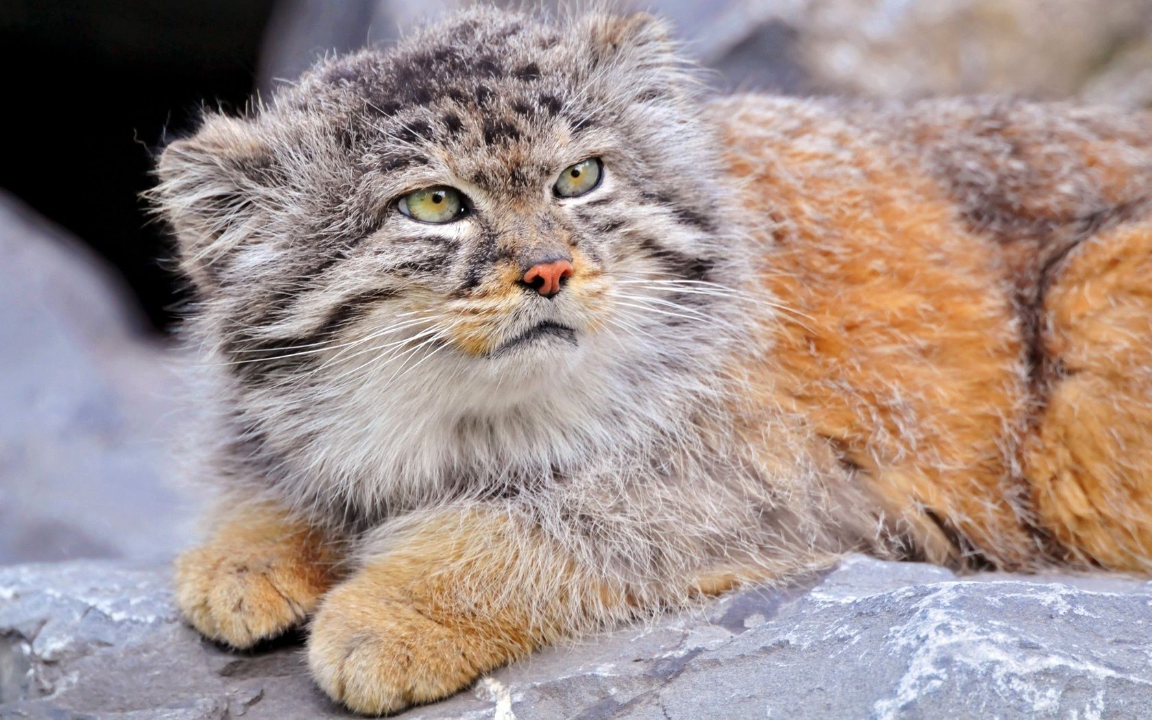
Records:
{"label": "entire blurred background of rocks and black shadow behind the cat", "polygon": [[[202,107],[450,0],[0,0],[0,564],[167,558],[197,498],[170,447],[182,300],[138,194]],[[1152,105],[1152,0],[665,0],[718,91]]]}

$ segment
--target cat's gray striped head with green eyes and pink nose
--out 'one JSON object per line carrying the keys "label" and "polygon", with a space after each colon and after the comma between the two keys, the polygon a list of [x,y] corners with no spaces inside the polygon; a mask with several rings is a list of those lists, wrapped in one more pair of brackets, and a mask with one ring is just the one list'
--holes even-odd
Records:
{"label": "cat's gray striped head with green eyes and pink nose", "polygon": [[651,17],[473,9],[210,115],[154,197],[256,391],[635,386],[715,342],[740,274],[690,86]]}

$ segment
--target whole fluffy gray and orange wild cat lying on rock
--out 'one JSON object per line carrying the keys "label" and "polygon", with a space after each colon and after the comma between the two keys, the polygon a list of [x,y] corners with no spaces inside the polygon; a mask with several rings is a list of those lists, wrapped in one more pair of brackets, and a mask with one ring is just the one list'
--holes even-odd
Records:
{"label": "whole fluffy gray and orange wild cat lying on rock", "polygon": [[702,90],[479,7],[167,146],[196,628],[376,713],[846,551],[1149,570],[1152,119]]}

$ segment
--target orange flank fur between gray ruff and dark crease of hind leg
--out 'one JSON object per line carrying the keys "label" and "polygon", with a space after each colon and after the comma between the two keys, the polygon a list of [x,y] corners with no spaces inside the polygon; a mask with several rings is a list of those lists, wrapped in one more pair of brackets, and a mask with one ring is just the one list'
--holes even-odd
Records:
{"label": "orange flank fur between gray ruff and dark crease of hind leg", "polygon": [[996,258],[858,130],[813,116],[760,132],[751,103],[733,116],[745,207],[787,218],[763,238],[775,243],[765,282],[790,309],[766,328],[772,400],[841,450],[929,559],[960,560],[932,513],[1000,564],[1024,564],[1032,544],[1006,479],[1023,349]]}

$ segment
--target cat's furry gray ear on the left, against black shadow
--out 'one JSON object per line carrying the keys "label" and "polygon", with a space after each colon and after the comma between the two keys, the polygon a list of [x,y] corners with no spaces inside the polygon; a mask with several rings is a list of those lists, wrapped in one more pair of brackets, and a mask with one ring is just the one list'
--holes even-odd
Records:
{"label": "cat's furry gray ear on the left, against black shadow", "polygon": [[147,197],[176,233],[181,268],[200,288],[256,232],[274,184],[273,158],[255,121],[209,114],[200,129],[164,149]]}

